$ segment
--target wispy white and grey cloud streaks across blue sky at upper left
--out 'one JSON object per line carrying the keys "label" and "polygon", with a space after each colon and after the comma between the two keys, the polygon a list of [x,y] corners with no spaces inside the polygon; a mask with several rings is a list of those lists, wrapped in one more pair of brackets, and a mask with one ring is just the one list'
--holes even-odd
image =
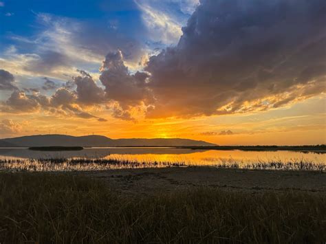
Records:
{"label": "wispy white and grey cloud streaks across blue sky at upper left", "polygon": [[122,49],[129,54],[127,65],[135,67],[145,54],[136,40],[122,37],[119,32],[107,32],[92,23],[53,14],[34,12],[34,15],[41,31],[28,37],[10,34],[9,38],[20,48],[11,45],[0,55],[3,69],[61,80],[67,75],[76,76],[76,69],[86,69],[98,77],[96,70],[110,50]]}

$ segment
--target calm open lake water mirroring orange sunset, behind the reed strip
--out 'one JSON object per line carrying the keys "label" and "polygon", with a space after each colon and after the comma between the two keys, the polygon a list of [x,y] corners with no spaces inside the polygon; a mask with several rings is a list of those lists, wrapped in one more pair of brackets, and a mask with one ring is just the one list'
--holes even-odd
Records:
{"label": "calm open lake water mirroring orange sunset, behind the reed strip", "polygon": [[[0,148],[0,159],[13,159],[10,168],[24,170],[104,170],[128,168],[123,166],[87,164],[48,164],[38,159],[118,159],[142,163],[146,166],[166,166],[153,162],[169,162],[182,165],[215,166],[217,164],[259,164],[261,162],[311,162],[326,165],[325,153],[303,153],[293,151],[218,151],[180,148],[85,148],[82,151],[30,151],[28,148]],[[32,160],[31,160],[32,159]],[[33,160],[34,159],[34,160]],[[7,166],[8,167],[8,166]],[[131,167],[131,166],[130,166]],[[132,166],[134,167],[134,166]]]}

